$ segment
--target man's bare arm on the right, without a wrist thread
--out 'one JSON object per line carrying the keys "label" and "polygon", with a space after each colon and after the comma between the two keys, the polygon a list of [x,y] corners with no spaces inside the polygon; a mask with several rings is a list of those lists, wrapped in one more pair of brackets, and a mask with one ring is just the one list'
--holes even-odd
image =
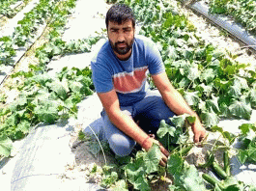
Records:
{"label": "man's bare arm on the right, without a wrist thread", "polygon": [[206,136],[205,128],[200,123],[197,114],[187,105],[184,97],[171,85],[166,72],[152,75],[152,78],[164,102],[175,114],[189,114],[196,117],[195,123],[191,124],[194,133],[194,142],[201,141]]}

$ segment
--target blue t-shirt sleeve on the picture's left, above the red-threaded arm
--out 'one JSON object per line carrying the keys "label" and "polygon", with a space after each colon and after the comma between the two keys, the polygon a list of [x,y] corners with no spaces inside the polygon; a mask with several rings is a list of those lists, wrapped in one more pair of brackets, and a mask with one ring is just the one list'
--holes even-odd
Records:
{"label": "blue t-shirt sleeve on the picture's left, above the red-threaded arm", "polygon": [[91,62],[93,82],[97,93],[107,93],[113,90],[114,85],[110,69],[102,61]]}

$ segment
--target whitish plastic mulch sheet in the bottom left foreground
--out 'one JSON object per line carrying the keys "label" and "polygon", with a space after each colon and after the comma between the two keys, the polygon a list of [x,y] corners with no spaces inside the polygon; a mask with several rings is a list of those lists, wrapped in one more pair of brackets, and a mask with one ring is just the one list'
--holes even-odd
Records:
{"label": "whitish plastic mulch sheet in the bottom left foreground", "polygon": [[36,128],[27,137],[14,166],[11,191],[103,190],[84,177],[62,178],[74,154],[69,146],[71,129],[58,125]]}

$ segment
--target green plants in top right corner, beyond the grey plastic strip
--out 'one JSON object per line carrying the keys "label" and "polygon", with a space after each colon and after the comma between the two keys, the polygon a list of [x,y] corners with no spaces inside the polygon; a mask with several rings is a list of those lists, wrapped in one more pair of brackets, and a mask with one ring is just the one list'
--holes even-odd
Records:
{"label": "green plants in top right corner, beyond the grey plastic strip", "polygon": [[255,0],[209,0],[210,12],[231,15],[248,31],[256,34]]}

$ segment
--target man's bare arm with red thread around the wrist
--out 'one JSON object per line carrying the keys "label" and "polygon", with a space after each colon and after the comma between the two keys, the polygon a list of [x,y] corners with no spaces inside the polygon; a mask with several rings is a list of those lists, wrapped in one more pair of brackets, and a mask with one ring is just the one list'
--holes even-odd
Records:
{"label": "man's bare arm with red thread around the wrist", "polygon": [[[99,93],[98,95],[109,120],[141,147],[145,150],[149,150],[156,140],[149,138],[149,135],[146,132],[144,132],[128,115],[121,111],[116,91],[112,90],[108,93]],[[163,147],[160,147],[160,150],[163,153],[160,164],[165,166],[169,152]]]}

